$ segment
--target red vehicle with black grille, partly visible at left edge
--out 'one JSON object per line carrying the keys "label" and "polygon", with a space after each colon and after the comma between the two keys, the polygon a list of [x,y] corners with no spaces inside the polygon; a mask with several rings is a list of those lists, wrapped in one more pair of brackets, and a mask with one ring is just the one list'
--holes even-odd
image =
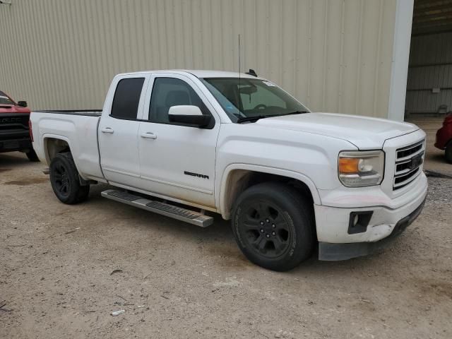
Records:
{"label": "red vehicle with black grille, partly visible at left edge", "polygon": [[32,147],[29,120],[27,102],[15,102],[0,90],[0,153],[19,151],[30,161],[39,161]]}

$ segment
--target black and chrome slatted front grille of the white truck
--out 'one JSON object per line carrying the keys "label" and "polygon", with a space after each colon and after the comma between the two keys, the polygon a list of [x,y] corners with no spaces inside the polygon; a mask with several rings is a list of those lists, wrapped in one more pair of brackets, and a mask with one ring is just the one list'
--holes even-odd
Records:
{"label": "black and chrome slatted front grille of the white truck", "polygon": [[424,162],[424,140],[396,150],[393,190],[407,186],[420,174]]}

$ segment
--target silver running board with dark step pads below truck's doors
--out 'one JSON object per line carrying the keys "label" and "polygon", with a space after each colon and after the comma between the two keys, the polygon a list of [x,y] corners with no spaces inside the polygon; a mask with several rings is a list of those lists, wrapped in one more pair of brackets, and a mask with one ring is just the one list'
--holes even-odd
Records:
{"label": "silver running board with dark step pads below truck's doors", "polygon": [[119,201],[120,203],[126,203],[127,205],[142,208],[143,210],[149,210],[150,212],[188,222],[189,224],[199,227],[208,227],[213,224],[213,218],[208,215],[203,215],[195,212],[194,210],[187,210],[186,208],[172,206],[169,205],[169,203],[153,201],[124,191],[117,191],[115,189],[107,189],[107,191],[103,191],[101,194],[104,198]]}

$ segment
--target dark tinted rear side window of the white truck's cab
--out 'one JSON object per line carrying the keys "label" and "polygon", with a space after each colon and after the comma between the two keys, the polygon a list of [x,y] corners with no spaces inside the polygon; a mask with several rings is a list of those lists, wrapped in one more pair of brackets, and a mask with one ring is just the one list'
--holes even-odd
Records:
{"label": "dark tinted rear side window of the white truck's cab", "polygon": [[136,119],[144,78],[128,78],[119,81],[114,92],[112,117]]}

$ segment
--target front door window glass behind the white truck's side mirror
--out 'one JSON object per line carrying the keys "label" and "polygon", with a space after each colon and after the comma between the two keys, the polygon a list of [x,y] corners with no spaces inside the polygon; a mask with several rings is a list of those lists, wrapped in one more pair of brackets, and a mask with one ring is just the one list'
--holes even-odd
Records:
{"label": "front door window glass behind the white truck's side mirror", "polygon": [[169,121],[169,107],[181,105],[197,106],[203,114],[210,114],[191,85],[177,78],[156,78],[150,97],[149,120],[159,124],[174,124]]}

